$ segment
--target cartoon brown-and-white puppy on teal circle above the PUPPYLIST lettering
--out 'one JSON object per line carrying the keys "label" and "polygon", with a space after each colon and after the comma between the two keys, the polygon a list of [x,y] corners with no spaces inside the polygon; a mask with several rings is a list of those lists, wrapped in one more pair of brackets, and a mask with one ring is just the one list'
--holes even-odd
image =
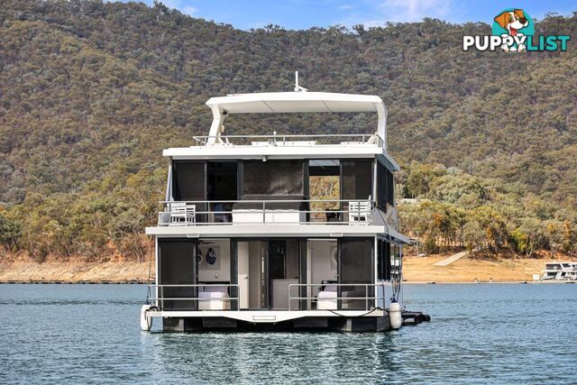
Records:
{"label": "cartoon brown-and-white puppy on teal circle above the PUPPYLIST lettering", "polygon": [[501,36],[501,50],[523,52],[527,50],[527,36],[534,34],[533,20],[522,9],[506,9],[495,16],[492,33]]}

